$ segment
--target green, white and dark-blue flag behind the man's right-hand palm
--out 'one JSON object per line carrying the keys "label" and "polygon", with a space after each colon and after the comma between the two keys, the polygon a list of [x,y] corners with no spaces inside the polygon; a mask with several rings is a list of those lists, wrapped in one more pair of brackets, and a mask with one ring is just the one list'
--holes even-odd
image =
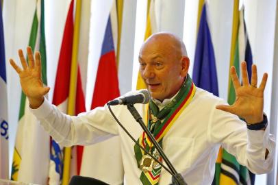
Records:
{"label": "green, white and dark-blue flag behind the man's right-hand palm", "polygon": [[[237,10],[238,11],[238,10]],[[247,35],[247,30],[244,23],[243,9],[238,11],[238,27],[236,45],[234,46],[233,66],[236,68],[236,72],[240,77],[240,62],[246,60],[247,71],[249,73],[249,81],[251,80],[251,66],[252,66],[252,53]],[[236,93],[233,88],[233,84],[229,82],[229,95],[228,103],[231,105],[236,99]],[[255,175],[240,165],[236,158],[223,149],[222,162],[220,164],[220,180],[219,184],[254,184]]]}

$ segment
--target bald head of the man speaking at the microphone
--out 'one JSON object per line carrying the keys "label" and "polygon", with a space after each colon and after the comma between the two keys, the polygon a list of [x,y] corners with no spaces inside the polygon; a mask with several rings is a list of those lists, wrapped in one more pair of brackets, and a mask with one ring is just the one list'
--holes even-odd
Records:
{"label": "bald head of the man speaking at the microphone", "polygon": [[139,63],[140,74],[151,97],[163,101],[179,91],[190,61],[180,38],[170,33],[158,33],[142,45]]}

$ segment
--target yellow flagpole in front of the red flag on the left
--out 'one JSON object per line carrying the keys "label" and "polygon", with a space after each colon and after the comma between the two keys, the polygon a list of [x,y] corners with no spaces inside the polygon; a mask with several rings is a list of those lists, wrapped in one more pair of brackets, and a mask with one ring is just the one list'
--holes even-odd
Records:
{"label": "yellow flagpole in front of the red flag on the left", "polygon": [[[76,1],[75,8],[75,24],[73,31],[73,53],[71,58],[71,79],[68,95],[68,114],[75,115],[75,97],[76,97],[76,86],[77,86],[77,57],[79,47],[79,27],[80,27],[80,15],[81,15],[81,0]],[[62,185],[67,185],[69,181],[71,169],[71,147],[64,149],[64,169]]]}

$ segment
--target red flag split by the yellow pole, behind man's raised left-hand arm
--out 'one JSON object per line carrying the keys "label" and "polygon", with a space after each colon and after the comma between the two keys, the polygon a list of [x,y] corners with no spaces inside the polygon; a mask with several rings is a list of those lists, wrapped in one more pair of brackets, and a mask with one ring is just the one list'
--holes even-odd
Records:
{"label": "red flag split by the yellow pole, behind man's raised left-hand arm", "polygon": [[[58,62],[58,69],[55,79],[55,87],[53,92],[53,104],[58,106],[62,112],[66,113],[68,106],[68,95],[69,95],[69,86],[71,79],[71,61],[73,53],[73,5],[74,1],[71,1],[71,5],[68,10],[68,15],[66,18],[66,24],[64,27],[64,35],[62,39],[62,45],[60,49],[60,57]],[[75,102],[75,114],[80,112],[85,112],[85,99],[84,93],[81,85],[81,75],[78,68],[77,73],[77,92],[76,92],[76,102]],[[53,143],[52,141],[52,153],[51,153],[51,167],[49,169],[49,182],[60,183],[62,180],[62,169],[63,169],[63,158],[61,148]],[[78,152],[79,151],[79,152]],[[77,148],[77,153],[81,153],[82,149]],[[80,157],[80,154],[77,154],[77,161]],[[79,159],[81,160],[81,159]],[[79,174],[81,162],[77,163],[77,171]],[[74,174],[77,175],[77,174]]]}

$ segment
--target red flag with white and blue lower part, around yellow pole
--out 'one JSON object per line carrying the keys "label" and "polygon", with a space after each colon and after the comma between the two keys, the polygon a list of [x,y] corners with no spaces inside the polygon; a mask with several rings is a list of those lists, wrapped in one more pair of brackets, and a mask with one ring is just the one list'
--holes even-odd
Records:
{"label": "red flag with white and blue lower part, around yellow pole", "polygon": [[[60,56],[58,61],[58,69],[55,79],[55,87],[53,93],[53,104],[58,107],[64,113],[68,113],[68,98],[70,95],[71,72],[74,51],[74,1],[71,1],[68,14],[66,17],[66,23],[64,26],[64,35],[62,38],[62,45],[60,49]],[[86,56],[87,58],[87,56]],[[87,61],[85,61],[87,62]],[[85,66],[86,68],[86,66]],[[85,98],[84,91],[81,82],[81,69],[77,66],[77,81],[76,81],[76,97],[75,97],[75,112],[85,112]],[[80,158],[81,156],[78,149],[79,147],[73,147],[72,156],[70,156],[70,166],[66,169],[68,175],[78,175],[80,170]],[[64,181],[64,147],[58,145],[55,140],[51,140],[51,162],[49,168],[49,184],[61,184]],[[68,181],[68,179],[66,180]]]}

